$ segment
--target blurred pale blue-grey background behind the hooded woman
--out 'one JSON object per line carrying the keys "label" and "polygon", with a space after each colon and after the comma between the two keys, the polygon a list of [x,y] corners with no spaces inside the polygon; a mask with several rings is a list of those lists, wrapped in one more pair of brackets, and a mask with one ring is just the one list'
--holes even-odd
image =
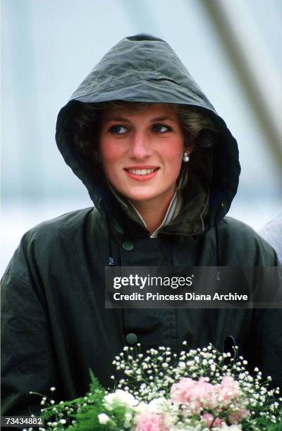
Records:
{"label": "blurred pale blue-grey background behind the hooded woman", "polygon": [[120,39],[165,39],[238,140],[229,215],[255,230],[282,212],[281,0],[2,0],[1,261],[20,237],[91,206],[54,139],[56,115]]}

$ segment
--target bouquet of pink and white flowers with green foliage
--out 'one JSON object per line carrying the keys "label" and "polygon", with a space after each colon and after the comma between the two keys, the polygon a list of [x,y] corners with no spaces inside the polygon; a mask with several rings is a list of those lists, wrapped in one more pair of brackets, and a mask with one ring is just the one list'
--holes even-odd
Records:
{"label": "bouquet of pink and white flowers with green foliage", "polygon": [[[183,349],[187,343],[183,342]],[[124,378],[104,389],[90,372],[90,392],[73,401],[42,398],[45,428],[40,430],[282,430],[282,398],[250,375],[242,356],[220,353],[212,344],[183,350],[124,347],[114,365]],[[55,388],[51,388],[54,391]]]}

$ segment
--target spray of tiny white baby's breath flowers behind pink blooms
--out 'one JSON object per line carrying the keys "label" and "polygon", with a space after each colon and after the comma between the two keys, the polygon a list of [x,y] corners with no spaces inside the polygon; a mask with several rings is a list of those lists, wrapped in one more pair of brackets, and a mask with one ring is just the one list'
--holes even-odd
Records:
{"label": "spray of tiny white baby's breath flowers behind pink blooms", "polygon": [[[183,342],[183,348],[186,346],[187,342]],[[173,383],[185,377],[193,380],[204,377],[212,385],[221,384],[224,377],[232,377],[240,388],[240,397],[235,400],[238,410],[239,406],[250,409],[253,424],[259,423],[262,416],[274,423],[275,415],[279,413],[278,401],[274,396],[280,393],[279,389],[268,389],[270,378],[262,382],[262,373],[257,368],[250,375],[245,368],[247,361],[243,356],[238,356],[238,346],[233,348],[233,355],[231,352],[222,353],[209,344],[203,349],[183,349],[179,357],[171,354],[169,347],[149,349],[145,355],[140,353],[140,344],[137,348],[139,350],[134,353],[133,347],[125,347],[123,359],[118,358],[118,370],[122,369],[125,373],[125,378],[118,382],[118,388],[130,392],[135,399],[143,402],[159,399],[160,396],[168,399]],[[266,406],[269,406],[269,413],[266,413]],[[219,411],[227,418],[230,409],[218,404]],[[216,415],[212,410],[209,413]],[[254,419],[256,416],[258,420]],[[246,418],[245,424],[248,421],[250,423],[250,419]]]}

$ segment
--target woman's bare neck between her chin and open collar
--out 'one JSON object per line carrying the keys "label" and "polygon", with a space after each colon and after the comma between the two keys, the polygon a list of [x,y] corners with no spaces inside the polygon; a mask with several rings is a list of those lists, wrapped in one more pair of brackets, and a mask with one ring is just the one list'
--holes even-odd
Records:
{"label": "woman's bare neck between her chin and open collar", "polygon": [[152,234],[162,223],[171,204],[173,194],[168,199],[154,199],[154,201],[131,201],[131,204],[140,213],[146,226]]}

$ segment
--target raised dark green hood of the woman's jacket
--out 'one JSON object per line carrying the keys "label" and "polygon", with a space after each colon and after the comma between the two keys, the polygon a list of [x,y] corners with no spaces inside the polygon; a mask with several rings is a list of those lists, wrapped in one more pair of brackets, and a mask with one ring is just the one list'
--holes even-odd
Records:
{"label": "raised dark green hood of the woman's jacket", "polygon": [[[90,170],[85,158],[75,148],[70,123],[81,102],[97,104],[114,100],[182,104],[209,112],[219,130],[219,137],[212,149],[202,151],[198,156],[206,167],[212,168],[208,168],[210,175],[207,175],[207,170],[201,171],[197,166],[198,182],[194,189],[200,187],[209,196],[208,201],[202,203],[206,208],[204,229],[208,230],[221,220],[238,188],[237,142],[171,46],[147,34],[125,37],[110,49],[58,115],[56,142],[59,151],[87,187],[98,210],[113,214],[112,194],[101,167],[97,164],[94,171]],[[192,163],[189,168],[193,170]],[[192,198],[195,196],[191,196],[191,209]]]}

